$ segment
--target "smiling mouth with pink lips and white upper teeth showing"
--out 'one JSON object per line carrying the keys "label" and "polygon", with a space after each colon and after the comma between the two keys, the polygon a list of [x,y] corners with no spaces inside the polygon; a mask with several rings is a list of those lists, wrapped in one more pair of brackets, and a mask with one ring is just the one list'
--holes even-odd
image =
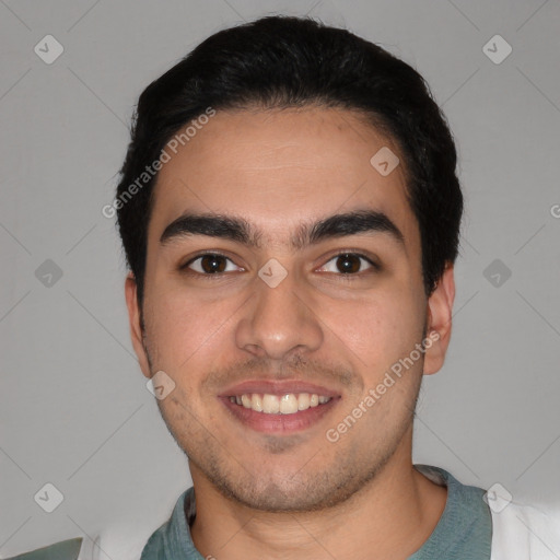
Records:
{"label": "smiling mouth with pink lips and white upper teeth showing", "polygon": [[288,434],[317,424],[341,397],[324,387],[298,382],[248,382],[219,398],[243,425],[258,432]]}

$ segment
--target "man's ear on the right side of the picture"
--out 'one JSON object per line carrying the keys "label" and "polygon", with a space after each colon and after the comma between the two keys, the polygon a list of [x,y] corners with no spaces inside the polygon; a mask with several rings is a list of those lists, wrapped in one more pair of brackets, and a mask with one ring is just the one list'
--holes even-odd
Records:
{"label": "man's ear on the right side of the picture", "polygon": [[424,375],[439,372],[445,360],[451,339],[451,318],[454,300],[455,278],[453,264],[450,262],[446,265],[435,290],[428,299]]}

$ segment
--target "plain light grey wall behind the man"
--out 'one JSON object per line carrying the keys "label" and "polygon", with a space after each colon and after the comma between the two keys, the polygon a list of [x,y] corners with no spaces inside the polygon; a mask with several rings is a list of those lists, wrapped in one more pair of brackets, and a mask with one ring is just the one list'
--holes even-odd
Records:
{"label": "plain light grey wall behind the man", "polygon": [[[307,12],[416,67],[457,140],[454,335],[424,380],[415,462],[560,500],[558,0],[0,0],[0,557],[119,523],[148,535],[189,486],[132,354],[101,209],[150,81],[220,28]],[[47,34],[65,49],[51,65],[34,51]],[[513,48],[501,63],[483,51],[495,34]],[[50,514],[34,501],[47,482],[65,498]]]}

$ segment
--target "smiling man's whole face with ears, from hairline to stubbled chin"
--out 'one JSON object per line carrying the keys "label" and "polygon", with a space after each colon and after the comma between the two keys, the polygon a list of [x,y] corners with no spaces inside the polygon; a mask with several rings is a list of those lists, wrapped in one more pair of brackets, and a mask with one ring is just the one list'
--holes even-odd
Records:
{"label": "smiling man's whole face with ears, from hairline to stubbled chin", "polygon": [[347,110],[218,112],[163,165],[144,332],[126,291],[144,375],[175,384],[158,404],[195,486],[311,511],[405,457],[453,290],[427,300],[402,164],[370,163],[384,147],[398,155]]}

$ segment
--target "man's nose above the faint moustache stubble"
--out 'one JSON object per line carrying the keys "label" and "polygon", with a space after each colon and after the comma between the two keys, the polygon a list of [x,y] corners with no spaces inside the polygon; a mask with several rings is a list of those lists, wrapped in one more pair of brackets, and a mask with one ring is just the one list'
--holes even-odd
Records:
{"label": "man's nose above the faint moustache stubble", "polygon": [[317,350],[324,340],[318,310],[294,275],[275,288],[255,278],[254,295],[240,318],[235,339],[238,348],[258,358],[285,360],[291,354]]}

